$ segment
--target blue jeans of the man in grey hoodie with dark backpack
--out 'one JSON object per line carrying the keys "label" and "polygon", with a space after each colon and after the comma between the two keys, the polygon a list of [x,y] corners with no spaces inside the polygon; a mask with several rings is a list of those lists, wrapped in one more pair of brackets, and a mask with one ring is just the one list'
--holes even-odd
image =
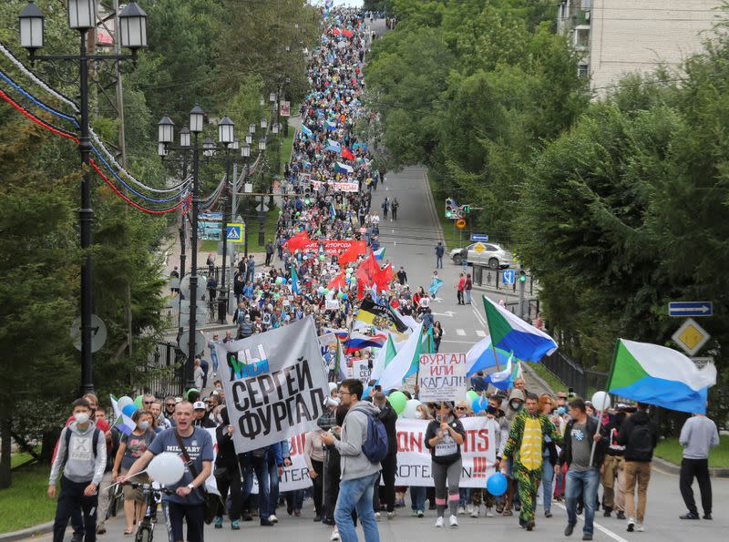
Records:
{"label": "blue jeans of the man in grey hoodie with dark backpack", "polygon": [[377,473],[354,478],[354,480],[342,480],[339,485],[339,498],[337,498],[336,508],[334,508],[334,522],[339,527],[342,542],[357,542],[358,540],[352,510],[357,511],[357,516],[362,523],[364,541],[380,541],[375,511],[372,509],[372,494],[375,491],[376,478]]}

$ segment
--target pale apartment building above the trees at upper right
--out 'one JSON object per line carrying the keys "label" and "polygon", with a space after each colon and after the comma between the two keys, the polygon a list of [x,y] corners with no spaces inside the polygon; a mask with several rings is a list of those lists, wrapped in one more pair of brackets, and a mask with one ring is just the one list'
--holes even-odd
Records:
{"label": "pale apartment building above the trees at upper right", "polygon": [[631,72],[679,66],[729,17],[722,0],[564,0],[557,25],[582,53],[597,97]]}

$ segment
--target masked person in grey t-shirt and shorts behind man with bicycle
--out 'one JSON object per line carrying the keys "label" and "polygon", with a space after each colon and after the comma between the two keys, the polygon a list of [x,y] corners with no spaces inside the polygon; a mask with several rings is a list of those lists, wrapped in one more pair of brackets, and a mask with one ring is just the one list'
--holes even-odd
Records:
{"label": "masked person in grey t-shirt and shorts behind man with bicycle", "polygon": [[[129,467],[139,459],[152,444],[155,434],[151,428],[152,414],[147,410],[137,410],[131,415],[131,420],[137,426],[129,435],[122,435],[119,441],[117,457],[114,460],[114,468],[111,476],[117,481],[119,474],[126,475]],[[149,476],[146,474],[137,475],[135,482],[147,484]],[[127,517],[125,535],[131,535],[134,531],[135,521],[139,524],[144,517],[144,495],[139,487],[124,486],[124,515]]]}

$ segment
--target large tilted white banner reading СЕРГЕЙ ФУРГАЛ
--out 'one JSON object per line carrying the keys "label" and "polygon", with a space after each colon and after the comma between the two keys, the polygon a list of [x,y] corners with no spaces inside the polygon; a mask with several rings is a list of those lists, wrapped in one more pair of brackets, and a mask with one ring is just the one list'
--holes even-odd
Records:
{"label": "large tilted white banner reading \u0421\u0415\u0420\u0413\u0415\u0419 \u0424\u0423\u0420\u0413\u0410\u041b", "polygon": [[216,350],[237,453],[316,428],[329,387],[311,316]]}

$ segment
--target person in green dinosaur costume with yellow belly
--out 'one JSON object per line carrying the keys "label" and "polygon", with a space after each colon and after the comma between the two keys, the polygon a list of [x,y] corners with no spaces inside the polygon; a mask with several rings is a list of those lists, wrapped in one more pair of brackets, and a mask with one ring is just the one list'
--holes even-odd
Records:
{"label": "person in green dinosaur costume with yellow belly", "polygon": [[[527,394],[524,410],[514,418],[508,433],[507,445],[501,463],[506,465],[508,457],[514,460],[514,476],[519,481],[519,525],[528,531],[536,527],[534,522],[534,504],[537,500],[537,489],[542,476],[542,452],[545,437],[556,445],[562,445],[562,437],[549,418],[539,413],[539,398],[535,394]],[[499,465],[497,465],[498,469]]]}

